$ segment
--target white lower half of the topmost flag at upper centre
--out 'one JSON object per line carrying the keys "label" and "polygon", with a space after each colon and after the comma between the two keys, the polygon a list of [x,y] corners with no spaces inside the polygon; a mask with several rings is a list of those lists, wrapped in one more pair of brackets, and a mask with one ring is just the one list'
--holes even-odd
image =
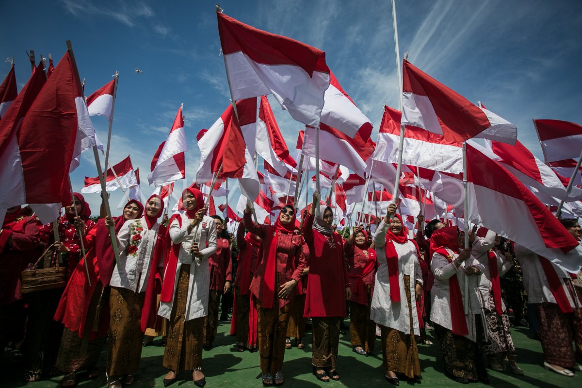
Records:
{"label": "white lower half of the topmost flag at upper centre", "polygon": [[259,64],[242,51],[224,58],[235,101],[273,94],[297,121],[314,127],[320,124],[328,73],[315,71],[310,77],[299,66]]}

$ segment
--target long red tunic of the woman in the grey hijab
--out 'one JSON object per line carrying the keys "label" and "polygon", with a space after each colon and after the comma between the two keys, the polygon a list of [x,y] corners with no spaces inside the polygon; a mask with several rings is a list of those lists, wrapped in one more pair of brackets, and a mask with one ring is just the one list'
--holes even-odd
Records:
{"label": "long red tunic of the woman in the grey hijab", "polygon": [[346,287],[349,285],[343,241],[339,234],[323,235],[313,230],[314,217],[307,213],[303,236],[309,247],[309,276],[303,315],[345,317]]}

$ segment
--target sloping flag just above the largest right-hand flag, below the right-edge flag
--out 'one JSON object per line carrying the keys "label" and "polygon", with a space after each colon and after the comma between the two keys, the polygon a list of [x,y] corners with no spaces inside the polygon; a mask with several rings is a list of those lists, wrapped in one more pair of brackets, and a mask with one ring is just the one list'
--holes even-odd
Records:
{"label": "sloping flag just above the largest right-hand flag, below the right-edge flag", "polygon": [[[478,149],[474,144],[473,146]],[[530,188],[542,202],[552,203],[552,200],[546,199],[548,196],[567,202],[582,199],[582,190],[573,188],[569,194],[566,193],[566,188],[556,173],[520,142],[510,146],[487,140],[485,147],[495,154],[494,160],[502,163],[503,167]]]}

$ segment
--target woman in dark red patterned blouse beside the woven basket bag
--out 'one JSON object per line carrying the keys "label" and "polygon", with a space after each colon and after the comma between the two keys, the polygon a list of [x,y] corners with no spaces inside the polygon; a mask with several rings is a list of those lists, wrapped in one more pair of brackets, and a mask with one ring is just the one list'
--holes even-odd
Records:
{"label": "woman in dark red patterned blouse beside the woven basket bag", "polygon": [[[95,223],[88,219],[90,210],[84,197],[79,193],[73,193],[73,199],[74,203],[65,206],[65,214],[56,220],[60,244],[56,244],[52,258],[52,265],[55,260],[62,260],[59,265],[66,267],[67,280],[82,255],[79,235],[87,235],[95,226]],[[81,226],[80,223],[76,225],[76,218],[79,221],[85,219],[84,225]],[[41,233],[44,232],[53,236],[52,223],[41,227]],[[26,355],[26,361],[24,361],[24,379],[26,380],[39,379],[41,372],[48,376],[59,374],[55,364],[61,345],[63,325],[54,322],[53,317],[62,293],[62,288],[55,288],[26,295],[29,317],[26,323],[27,334],[22,345],[23,354]]]}

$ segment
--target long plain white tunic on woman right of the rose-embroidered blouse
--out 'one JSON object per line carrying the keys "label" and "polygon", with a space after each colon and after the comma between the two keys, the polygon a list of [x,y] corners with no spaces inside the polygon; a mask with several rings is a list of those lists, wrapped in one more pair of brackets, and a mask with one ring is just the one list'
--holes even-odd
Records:
{"label": "long plain white tunic on woman right of the rose-embroidered blouse", "polygon": [[[158,315],[170,319],[173,302],[176,301],[176,288],[178,287],[180,270],[182,269],[182,265],[190,265],[188,297],[186,301],[186,312],[184,313],[184,321],[188,321],[208,315],[208,294],[210,290],[210,267],[208,266],[208,258],[217,250],[217,232],[212,218],[204,216],[198,230],[194,228],[188,233],[188,225],[191,220],[185,214],[180,215],[180,217],[182,217],[182,227],[179,226],[178,220],[173,220],[168,230],[173,244],[180,244],[178,264],[176,265],[174,278],[174,297],[172,302],[160,302]],[[190,255],[194,232],[196,232],[198,247],[205,247],[200,249],[202,255],[200,260],[192,260],[192,255]],[[165,277],[166,274],[164,273]]]}

